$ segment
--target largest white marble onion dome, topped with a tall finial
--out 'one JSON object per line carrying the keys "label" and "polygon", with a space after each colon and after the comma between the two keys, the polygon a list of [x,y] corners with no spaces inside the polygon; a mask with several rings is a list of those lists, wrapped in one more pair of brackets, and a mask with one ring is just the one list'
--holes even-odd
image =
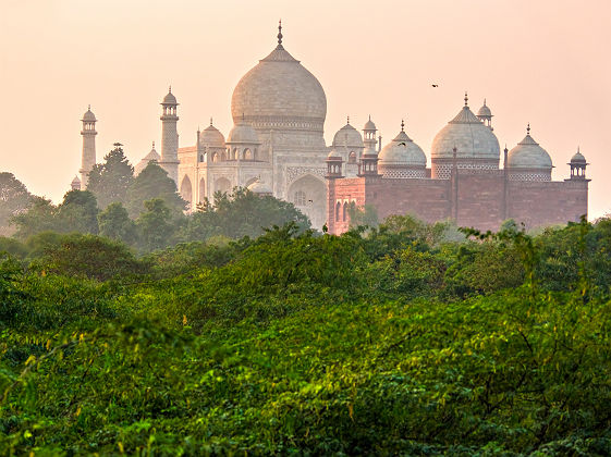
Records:
{"label": "largest white marble onion dome, topped with a tall finial", "polygon": [[233,91],[231,115],[257,129],[322,132],[327,97],[318,79],[282,46],[246,73]]}

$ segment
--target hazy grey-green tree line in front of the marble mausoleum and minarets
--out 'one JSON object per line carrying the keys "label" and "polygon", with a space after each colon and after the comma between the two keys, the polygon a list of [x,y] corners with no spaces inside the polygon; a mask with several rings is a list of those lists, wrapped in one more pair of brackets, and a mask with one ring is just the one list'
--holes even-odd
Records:
{"label": "hazy grey-green tree line in front of the marble mausoleum and minarets", "polygon": [[22,240],[44,232],[93,234],[149,252],[210,237],[256,237],[265,227],[291,221],[309,228],[292,203],[243,188],[215,194],[190,215],[185,208],[161,166],[149,162],[134,176],[119,144],[94,166],[87,190],[70,190],[59,205],[30,195],[12,174],[0,174],[0,228]]}

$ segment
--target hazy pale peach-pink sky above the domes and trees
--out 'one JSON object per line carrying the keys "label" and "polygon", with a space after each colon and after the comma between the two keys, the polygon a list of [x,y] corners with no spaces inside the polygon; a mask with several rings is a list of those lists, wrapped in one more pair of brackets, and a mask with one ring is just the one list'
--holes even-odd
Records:
{"label": "hazy pale peach-pink sky above the domes and trees", "polygon": [[227,136],[233,88],[276,46],[279,17],[327,94],[328,143],[349,114],[357,128],[371,114],[384,144],[405,118],[430,165],[468,90],[474,111],[487,99],[501,148],[530,122],[554,180],[581,146],[590,218],[611,212],[610,0],[0,0],[0,170],[61,199],[88,103],[98,161],[120,141],[136,163],[160,140],[169,84],[181,147],[210,116]]}

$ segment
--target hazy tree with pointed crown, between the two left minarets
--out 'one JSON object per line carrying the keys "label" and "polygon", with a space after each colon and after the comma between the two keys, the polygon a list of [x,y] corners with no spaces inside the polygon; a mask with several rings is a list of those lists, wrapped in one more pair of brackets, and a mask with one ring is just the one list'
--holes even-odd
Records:
{"label": "hazy tree with pointed crown, between the two left minarets", "polygon": [[103,158],[103,163],[98,163],[89,173],[87,190],[94,193],[98,206],[103,209],[113,201],[123,205],[127,201],[127,190],[134,182],[134,168],[123,153],[120,143]]}

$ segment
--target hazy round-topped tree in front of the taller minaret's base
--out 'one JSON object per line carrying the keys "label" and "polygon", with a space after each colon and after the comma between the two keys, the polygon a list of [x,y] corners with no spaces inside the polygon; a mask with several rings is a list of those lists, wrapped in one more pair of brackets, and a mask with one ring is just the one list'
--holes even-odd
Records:
{"label": "hazy round-topped tree in front of the taller minaret's base", "polygon": [[127,212],[137,218],[145,210],[145,201],[154,198],[163,200],[173,215],[182,214],[186,201],[176,193],[176,184],[156,162],[148,165],[136,176],[129,192]]}

